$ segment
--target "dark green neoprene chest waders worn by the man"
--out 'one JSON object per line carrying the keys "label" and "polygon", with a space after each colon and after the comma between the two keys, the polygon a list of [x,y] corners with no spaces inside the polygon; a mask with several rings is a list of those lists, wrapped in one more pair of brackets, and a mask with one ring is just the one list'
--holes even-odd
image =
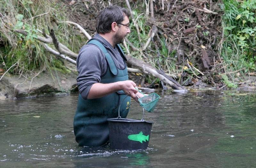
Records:
{"label": "dark green neoprene chest waders worn by the man", "polygon": [[[108,54],[106,48],[97,40],[90,40],[87,44],[93,44],[100,47],[106,57],[108,63],[107,73],[101,77],[100,83],[113,83],[118,81],[128,80],[128,71],[125,68],[116,68],[115,62]],[[120,54],[124,53],[120,46]],[[126,118],[131,98],[126,97],[124,91],[117,91],[98,99],[83,99],[79,94],[76,114],[74,117],[74,133],[76,142],[79,146],[94,146],[99,147],[108,142],[108,118],[118,116],[118,107],[120,106],[120,116]],[[123,101],[124,100],[124,101]]]}

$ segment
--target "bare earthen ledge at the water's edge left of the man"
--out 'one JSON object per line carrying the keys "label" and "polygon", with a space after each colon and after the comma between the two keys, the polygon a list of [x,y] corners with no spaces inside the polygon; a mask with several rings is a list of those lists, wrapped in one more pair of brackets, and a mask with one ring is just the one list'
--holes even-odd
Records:
{"label": "bare earthen ledge at the water's edge left of the man", "polygon": [[66,94],[78,91],[76,86],[77,73],[63,74],[42,72],[28,79],[24,76],[4,76],[0,81],[0,99],[28,98]]}

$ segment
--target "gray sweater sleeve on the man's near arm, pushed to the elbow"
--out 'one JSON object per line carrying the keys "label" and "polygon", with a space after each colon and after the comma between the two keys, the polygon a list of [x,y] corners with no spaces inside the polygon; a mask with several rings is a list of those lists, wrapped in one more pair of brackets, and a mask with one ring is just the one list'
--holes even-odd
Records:
{"label": "gray sweater sleeve on the man's near arm, pushed to the elbow", "polygon": [[85,45],[79,51],[76,59],[78,77],[76,78],[79,93],[87,99],[92,84],[100,83],[100,77],[107,70],[107,62],[100,48],[95,45]]}

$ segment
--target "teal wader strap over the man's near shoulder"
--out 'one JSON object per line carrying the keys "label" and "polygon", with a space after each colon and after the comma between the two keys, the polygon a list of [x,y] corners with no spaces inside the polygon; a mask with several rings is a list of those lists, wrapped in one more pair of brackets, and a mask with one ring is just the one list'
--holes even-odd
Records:
{"label": "teal wader strap over the man's near shoulder", "polygon": [[114,60],[112,59],[112,57],[109,55],[107,49],[103,46],[103,44],[101,44],[98,40],[90,40],[87,44],[93,44],[95,46],[98,46],[101,49],[101,51],[104,53],[104,55],[106,57],[106,60],[108,62],[108,66],[109,66],[111,73],[114,76],[116,76],[118,74],[116,64],[115,64]]}

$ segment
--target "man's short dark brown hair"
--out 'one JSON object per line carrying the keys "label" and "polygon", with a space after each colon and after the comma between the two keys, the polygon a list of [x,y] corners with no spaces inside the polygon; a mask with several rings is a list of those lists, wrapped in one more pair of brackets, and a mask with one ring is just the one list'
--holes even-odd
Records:
{"label": "man's short dark brown hair", "polygon": [[101,10],[97,16],[97,33],[105,34],[111,31],[113,22],[121,23],[124,17],[129,18],[130,13],[127,9],[120,6],[111,5]]}

